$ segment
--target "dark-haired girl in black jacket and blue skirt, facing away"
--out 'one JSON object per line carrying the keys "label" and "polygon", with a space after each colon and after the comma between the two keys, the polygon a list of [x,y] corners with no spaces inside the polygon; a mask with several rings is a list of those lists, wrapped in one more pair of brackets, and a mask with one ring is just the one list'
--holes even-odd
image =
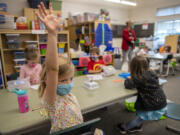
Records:
{"label": "dark-haired girl in black jacket and blue skirt, facing away", "polygon": [[159,120],[166,113],[166,96],[159,85],[158,77],[149,69],[143,56],[135,56],[130,63],[131,78],[125,80],[126,88],[136,88],[136,118],[126,124],[118,124],[121,134],[142,131],[145,120]]}

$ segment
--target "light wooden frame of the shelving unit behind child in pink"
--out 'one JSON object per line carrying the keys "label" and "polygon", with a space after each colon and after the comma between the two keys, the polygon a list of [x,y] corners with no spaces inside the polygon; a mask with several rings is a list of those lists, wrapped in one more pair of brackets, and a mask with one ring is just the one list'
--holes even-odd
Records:
{"label": "light wooden frame of the shelving unit behind child in pink", "polygon": [[[6,39],[6,34],[20,34],[19,35],[19,41],[20,41],[20,47],[17,49],[8,49],[7,46],[7,39]],[[44,31],[42,34],[38,33],[38,34],[34,34],[34,32],[32,33],[31,30],[5,30],[5,29],[1,29],[0,30],[0,48],[1,48],[1,56],[2,56],[2,66],[3,66],[3,76],[4,76],[4,82],[5,82],[5,86],[7,86],[7,81],[8,81],[8,76],[12,75],[12,74],[17,74],[14,66],[14,55],[13,52],[14,51],[23,51],[25,49],[25,44],[24,41],[37,41],[37,47],[40,50],[40,45],[41,44],[47,44],[47,42],[40,42],[40,36],[41,35],[47,35],[47,31]],[[64,48],[64,53],[67,54],[67,56],[69,56],[69,32],[68,31],[60,31],[58,32],[58,37],[65,37],[66,41],[62,41],[59,40],[58,43],[64,43],[65,44],[65,48]],[[45,58],[45,54],[41,54],[40,53],[40,57]],[[63,54],[64,54],[63,53]]]}

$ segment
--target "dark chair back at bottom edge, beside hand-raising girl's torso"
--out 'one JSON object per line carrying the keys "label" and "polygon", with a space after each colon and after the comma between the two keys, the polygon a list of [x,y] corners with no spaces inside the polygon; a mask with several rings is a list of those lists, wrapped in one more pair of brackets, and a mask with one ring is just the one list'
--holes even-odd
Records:
{"label": "dark chair back at bottom edge, beside hand-raising girl's torso", "polygon": [[100,118],[96,118],[82,124],[54,132],[50,135],[93,135],[96,124],[100,121]]}

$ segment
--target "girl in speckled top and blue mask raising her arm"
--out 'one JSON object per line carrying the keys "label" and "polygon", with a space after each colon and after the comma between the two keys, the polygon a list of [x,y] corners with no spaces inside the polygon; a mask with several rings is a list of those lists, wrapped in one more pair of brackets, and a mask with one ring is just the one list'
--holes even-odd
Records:
{"label": "girl in speckled top and blue mask raising her arm", "polygon": [[48,45],[45,66],[41,73],[39,96],[42,97],[51,120],[51,131],[55,132],[83,122],[80,106],[72,95],[74,66],[66,58],[58,57],[57,32],[60,24],[60,14],[53,15],[52,5],[49,13],[44,4],[39,6],[38,18],[45,24],[48,31]]}

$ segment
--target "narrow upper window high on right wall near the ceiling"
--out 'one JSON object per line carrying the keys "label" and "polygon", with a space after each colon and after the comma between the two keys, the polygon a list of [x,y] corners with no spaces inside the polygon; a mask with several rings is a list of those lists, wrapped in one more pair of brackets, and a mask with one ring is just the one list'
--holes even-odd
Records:
{"label": "narrow upper window high on right wall near the ceiling", "polygon": [[180,5],[168,8],[159,8],[156,12],[156,16],[170,16],[177,14],[180,14]]}

